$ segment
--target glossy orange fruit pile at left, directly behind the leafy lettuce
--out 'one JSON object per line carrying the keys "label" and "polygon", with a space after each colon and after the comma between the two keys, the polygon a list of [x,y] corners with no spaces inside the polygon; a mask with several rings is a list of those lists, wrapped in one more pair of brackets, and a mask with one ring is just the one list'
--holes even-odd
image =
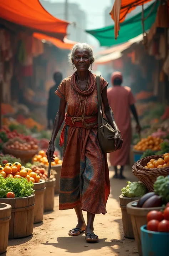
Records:
{"label": "glossy orange fruit pile at left, directly behind the leafy lettuce", "polygon": [[4,167],[0,166],[0,175],[2,175],[5,179],[8,177],[20,179],[21,177],[27,179],[28,181],[32,181],[33,183],[40,182],[40,175],[36,172],[33,172],[30,168],[25,168],[21,166],[21,163],[6,163]]}

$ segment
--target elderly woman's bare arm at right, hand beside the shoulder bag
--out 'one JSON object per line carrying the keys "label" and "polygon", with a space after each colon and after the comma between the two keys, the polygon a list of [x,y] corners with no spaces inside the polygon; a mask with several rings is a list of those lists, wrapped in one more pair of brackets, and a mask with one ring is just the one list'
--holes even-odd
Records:
{"label": "elderly woman's bare arm at right, hand beside the shoulder bag", "polygon": [[112,125],[113,129],[116,132],[115,136],[114,136],[114,140],[115,140],[116,149],[118,150],[122,147],[123,140],[121,137],[121,132],[119,131],[116,121],[114,120],[113,111],[108,103],[107,87],[105,87],[102,91],[102,103],[103,103],[103,108],[104,108],[104,114],[106,115],[108,122]]}

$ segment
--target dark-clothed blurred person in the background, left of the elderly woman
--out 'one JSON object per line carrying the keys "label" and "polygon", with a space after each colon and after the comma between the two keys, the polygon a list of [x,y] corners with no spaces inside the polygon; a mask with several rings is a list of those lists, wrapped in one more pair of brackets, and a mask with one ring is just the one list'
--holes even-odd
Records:
{"label": "dark-clothed blurred person in the background, left of the elderly woman", "polygon": [[60,105],[60,98],[55,94],[55,91],[57,90],[58,86],[60,85],[62,81],[62,74],[60,72],[55,72],[53,74],[53,80],[55,81],[55,85],[51,87],[49,90],[49,97],[48,97],[48,103],[47,103],[47,128],[51,128],[50,122],[54,124],[56,113],[59,110]]}

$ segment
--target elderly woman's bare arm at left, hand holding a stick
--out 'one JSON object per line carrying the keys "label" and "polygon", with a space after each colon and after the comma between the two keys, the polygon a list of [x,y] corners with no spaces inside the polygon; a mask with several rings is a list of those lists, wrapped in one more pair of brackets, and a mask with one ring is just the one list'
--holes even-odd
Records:
{"label": "elderly woman's bare arm at left, hand holding a stick", "polygon": [[65,109],[66,109],[66,101],[61,99],[60,100],[59,110],[58,110],[58,112],[56,114],[55,123],[54,123],[54,126],[53,126],[52,136],[51,136],[51,139],[50,139],[50,142],[49,142],[48,149],[46,151],[48,162],[49,162],[50,159],[53,160],[53,154],[55,152],[54,142],[55,142],[55,138],[57,136],[57,133],[60,130],[61,125],[62,125],[62,123],[64,121]]}

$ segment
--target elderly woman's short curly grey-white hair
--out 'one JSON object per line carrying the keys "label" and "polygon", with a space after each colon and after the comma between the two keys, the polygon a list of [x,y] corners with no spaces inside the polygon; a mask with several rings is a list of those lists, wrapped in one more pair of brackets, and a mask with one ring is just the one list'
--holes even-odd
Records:
{"label": "elderly woman's short curly grey-white hair", "polygon": [[74,59],[75,57],[75,51],[77,49],[80,49],[80,50],[87,50],[88,53],[89,53],[89,58],[91,60],[91,63],[92,64],[94,61],[95,61],[95,57],[94,57],[94,53],[93,53],[93,49],[91,46],[89,46],[89,44],[87,43],[77,43],[73,46],[73,48],[71,49],[70,53],[68,54],[68,61],[70,64],[72,64],[72,60]]}

